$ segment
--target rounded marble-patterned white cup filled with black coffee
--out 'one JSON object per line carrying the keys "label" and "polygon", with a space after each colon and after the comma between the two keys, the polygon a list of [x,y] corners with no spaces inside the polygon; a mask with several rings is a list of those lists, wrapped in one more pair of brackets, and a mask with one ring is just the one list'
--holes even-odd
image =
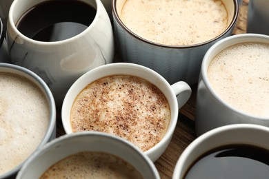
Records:
{"label": "rounded marble-patterned white cup filled with black coffee", "polygon": [[57,105],[79,76],[114,56],[112,26],[100,0],[14,0],[7,39],[12,63],[41,76]]}

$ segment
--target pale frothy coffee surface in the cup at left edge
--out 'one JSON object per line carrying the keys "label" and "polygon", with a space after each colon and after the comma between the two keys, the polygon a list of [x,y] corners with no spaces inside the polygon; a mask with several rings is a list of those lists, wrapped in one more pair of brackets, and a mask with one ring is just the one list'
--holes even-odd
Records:
{"label": "pale frothy coffee surface in the cup at left edge", "polygon": [[28,79],[0,72],[0,175],[28,158],[48,129],[48,103]]}

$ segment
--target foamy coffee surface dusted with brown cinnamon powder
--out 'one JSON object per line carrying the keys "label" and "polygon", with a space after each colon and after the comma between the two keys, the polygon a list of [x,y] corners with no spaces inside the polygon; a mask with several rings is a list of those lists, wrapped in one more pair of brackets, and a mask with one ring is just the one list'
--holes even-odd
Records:
{"label": "foamy coffee surface dusted with brown cinnamon powder", "polygon": [[107,132],[146,151],[166,133],[170,107],[152,83],[136,76],[114,75],[83,89],[70,116],[73,131]]}

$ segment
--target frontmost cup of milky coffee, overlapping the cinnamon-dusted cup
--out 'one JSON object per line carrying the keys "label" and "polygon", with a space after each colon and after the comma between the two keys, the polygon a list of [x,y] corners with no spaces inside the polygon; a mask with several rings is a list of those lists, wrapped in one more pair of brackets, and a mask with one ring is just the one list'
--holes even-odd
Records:
{"label": "frontmost cup of milky coffee, overlapping the cinnamon-dusted cup", "polygon": [[154,178],[154,163],[128,140],[98,131],[61,136],[33,154],[19,171],[28,178]]}

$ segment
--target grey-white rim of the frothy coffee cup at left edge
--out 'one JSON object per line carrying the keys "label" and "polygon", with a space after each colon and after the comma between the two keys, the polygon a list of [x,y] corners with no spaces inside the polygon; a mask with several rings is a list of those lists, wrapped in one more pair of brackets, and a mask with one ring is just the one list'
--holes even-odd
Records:
{"label": "grey-white rim of the frothy coffee cup at left edge", "polygon": [[[48,107],[50,110],[50,116],[49,116],[50,123],[48,125],[48,129],[46,131],[45,136],[43,136],[41,142],[39,143],[39,145],[37,145],[37,148],[34,149],[34,151],[37,151],[37,150],[39,150],[39,148],[41,146],[48,143],[48,141],[52,138],[52,135],[54,135],[54,130],[56,127],[56,114],[57,114],[57,112],[56,112],[56,106],[54,103],[54,97],[52,96],[52,92],[50,91],[48,85],[37,74],[26,69],[25,67],[21,67],[19,65],[14,65],[14,64],[10,64],[10,63],[0,63],[0,70],[1,69],[9,69],[9,70],[11,69],[12,72],[8,72],[8,73],[12,73],[12,74],[16,74],[16,72],[21,72],[23,74],[26,74],[26,76],[23,76],[24,78],[27,78],[30,81],[31,81],[30,78],[32,78],[35,81],[35,83],[38,83],[39,85],[41,85],[42,89],[41,88],[40,89],[44,90],[44,94],[48,100]],[[34,151],[33,151],[33,153],[34,153]],[[28,156],[28,158],[29,157],[30,156]],[[6,178],[6,177],[14,175],[14,173],[17,173],[17,171],[19,171],[19,169],[21,169],[24,162],[26,162],[26,160],[28,160],[28,158],[23,160],[21,163],[19,163],[13,169],[10,169],[6,173],[3,173],[2,175],[0,175],[0,178],[2,178],[2,177]]]}

